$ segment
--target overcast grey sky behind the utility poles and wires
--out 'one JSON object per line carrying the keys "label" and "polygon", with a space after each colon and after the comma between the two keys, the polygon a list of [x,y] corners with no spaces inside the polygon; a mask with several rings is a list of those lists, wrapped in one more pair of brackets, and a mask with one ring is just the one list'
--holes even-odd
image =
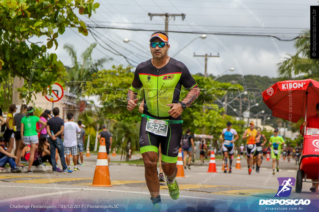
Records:
{"label": "overcast grey sky behind the utility poles and wires", "polygon": [[[192,74],[204,73],[204,57],[193,57],[195,52],[197,55],[205,53],[217,55],[219,53],[219,58],[208,59],[207,70],[209,74],[216,76],[231,67],[234,67],[235,71],[228,71],[226,74],[239,74],[234,63],[234,60],[237,59],[244,75],[255,74],[269,77],[278,76],[276,67],[277,63],[280,62],[280,54],[287,56],[287,54],[295,53],[294,41],[275,39],[280,50],[279,53],[270,37],[214,35],[213,33],[275,35],[282,39],[295,38],[300,35],[303,29],[309,29],[310,5],[318,4],[315,0],[102,0],[96,2],[100,3],[100,7],[90,19],[79,15],[86,24],[164,31],[164,20],[160,17],[153,17],[154,19],[151,21],[148,16],[149,12],[186,14],[184,20],[180,16],[176,16],[175,20],[170,20],[169,30],[208,31],[210,33],[207,34],[206,39],[195,39],[189,45],[187,44],[191,40],[201,36],[201,34],[168,33],[169,56],[173,56],[187,45],[174,58],[182,61]],[[202,29],[195,27],[194,24],[200,25]],[[110,35],[106,36],[104,41],[116,51],[133,60],[130,62],[134,67],[151,58],[149,38],[152,31],[95,28],[93,32],[98,35],[98,40],[109,33]],[[124,38],[138,44],[132,41],[124,43],[122,41]],[[216,38],[217,41],[215,41]],[[90,33],[88,36],[83,36],[78,33],[77,29],[67,28],[65,33],[58,37],[57,50],[52,48],[50,52],[55,52],[64,65],[71,66],[71,59],[63,49],[63,45],[66,43],[75,45],[78,55],[80,55],[93,42],[95,40]],[[122,56],[117,56],[104,49],[110,49],[107,44],[98,45],[93,52],[93,58],[113,58],[113,61],[105,64],[106,69],[120,63],[128,65]],[[228,51],[225,50],[225,47]],[[146,50],[143,51],[143,49]]]}

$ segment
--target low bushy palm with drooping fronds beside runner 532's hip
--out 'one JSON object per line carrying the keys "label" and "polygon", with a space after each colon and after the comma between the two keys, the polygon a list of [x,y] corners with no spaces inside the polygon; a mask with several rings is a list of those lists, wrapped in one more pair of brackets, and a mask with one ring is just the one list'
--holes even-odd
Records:
{"label": "low bushy palm with drooping fronds beside runner 532's hip", "polygon": [[[137,150],[139,147],[139,124],[118,121],[113,131],[112,149],[121,149],[122,154],[126,154],[125,161],[129,160],[129,149]],[[122,159],[121,154],[121,159]]]}

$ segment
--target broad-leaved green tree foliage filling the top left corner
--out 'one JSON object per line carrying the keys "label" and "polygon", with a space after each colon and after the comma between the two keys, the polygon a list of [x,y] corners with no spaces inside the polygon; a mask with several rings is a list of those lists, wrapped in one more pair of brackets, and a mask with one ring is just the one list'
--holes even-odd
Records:
{"label": "broad-leaved green tree foliage filling the top left corner", "polygon": [[[61,61],[47,50],[57,48],[58,34],[65,27],[77,27],[83,35],[87,29],[79,14],[88,14],[99,7],[93,0],[0,0],[0,83],[11,76],[26,79],[19,88],[21,98],[42,92],[65,74]],[[43,41],[32,43],[30,38]],[[31,44],[26,44],[28,41]]]}

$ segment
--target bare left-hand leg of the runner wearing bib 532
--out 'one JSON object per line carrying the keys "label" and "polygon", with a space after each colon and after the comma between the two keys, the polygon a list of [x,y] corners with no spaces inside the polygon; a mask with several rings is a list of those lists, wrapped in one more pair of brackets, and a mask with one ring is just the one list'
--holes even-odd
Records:
{"label": "bare left-hand leg of the runner wearing bib 532", "polygon": [[[159,178],[157,176],[157,153],[145,152],[143,155],[143,161],[145,166],[145,181],[151,197],[159,195]],[[164,168],[165,166],[163,166]],[[176,166],[175,166],[176,167]],[[166,174],[166,173],[165,173]],[[176,169],[177,174],[177,169]],[[175,174],[175,176],[176,176]],[[171,178],[169,178],[171,179]]]}

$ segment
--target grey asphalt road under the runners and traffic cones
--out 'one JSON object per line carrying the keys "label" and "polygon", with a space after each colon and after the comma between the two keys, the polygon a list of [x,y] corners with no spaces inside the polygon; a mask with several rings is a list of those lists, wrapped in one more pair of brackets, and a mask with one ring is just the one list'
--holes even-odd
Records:
{"label": "grey asphalt road under the runners and traffic cones", "polygon": [[[139,158],[138,155],[136,157]],[[109,171],[114,187],[90,187],[96,158],[96,155],[85,157],[85,166],[79,167],[80,171],[71,174],[52,173],[51,170],[48,170],[48,174],[44,171],[33,174],[0,174],[0,189],[3,194],[0,210],[20,211],[12,207],[22,207],[21,205],[46,205],[57,207],[57,211],[62,211],[62,208],[66,208],[63,209],[65,211],[93,211],[92,207],[97,206],[103,206],[105,209],[94,211],[149,211],[152,208],[142,166],[115,165],[111,162]],[[119,156],[111,157],[112,160],[119,160]],[[235,169],[234,160],[231,174],[207,173],[208,164],[200,165],[198,162],[191,165],[191,170],[184,170],[184,178],[177,178],[181,189],[178,200],[172,200],[168,195],[166,183],[161,183],[164,210],[197,211],[199,205],[204,205],[204,208],[215,208],[215,211],[227,211],[229,208],[249,211],[249,208],[244,208],[252,206],[260,198],[274,197],[278,190],[277,177],[296,177],[298,169],[294,161],[280,161],[280,171],[271,175],[271,161],[264,160],[260,173],[253,170],[249,175],[247,162],[242,159],[241,169]],[[217,160],[217,170],[221,165],[222,161]],[[310,183],[303,183],[300,194],[295,193],[293,188],[289,198],[317,198],[317,195],[309,191],[310,187]],[[32,208],[21,211],[28,210],[40,211]]]}

